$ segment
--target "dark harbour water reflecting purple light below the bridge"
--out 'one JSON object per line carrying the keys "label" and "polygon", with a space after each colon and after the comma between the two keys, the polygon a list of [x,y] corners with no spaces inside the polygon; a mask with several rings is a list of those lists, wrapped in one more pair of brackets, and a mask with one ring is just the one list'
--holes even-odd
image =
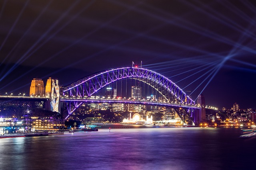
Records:
{"label": "dark harbour water reflecting purple light below the bridge", "polygon": [[[141,126],[138,126],[141,127]],[[99,129],[0,139],[1,170],[242,170],[255,168],[256,137],[237,127]]]}

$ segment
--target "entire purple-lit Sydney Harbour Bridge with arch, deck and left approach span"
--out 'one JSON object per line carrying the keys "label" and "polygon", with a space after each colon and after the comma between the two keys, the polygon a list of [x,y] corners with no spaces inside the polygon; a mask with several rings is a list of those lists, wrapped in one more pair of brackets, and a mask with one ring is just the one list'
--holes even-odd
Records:
{"label": "entire purple-lit Sydney Harbour Bridge with arch, deck and left approach span", "polygon": [[[65,119],[76,113],[82,104],[123,103],[171,107],[184,125],[195,125],[196,122],[205,120],[204,101],[196,104],[171,80],[146,68],[109,69],[86,76],[65,87],[54,86],[52,99],[47,96],[9,96],[1,97],[0,102],[29,102],[31,106],[46,109],[54,103],[65,108]],[[107,97],[109,90],[112,95]]]}

